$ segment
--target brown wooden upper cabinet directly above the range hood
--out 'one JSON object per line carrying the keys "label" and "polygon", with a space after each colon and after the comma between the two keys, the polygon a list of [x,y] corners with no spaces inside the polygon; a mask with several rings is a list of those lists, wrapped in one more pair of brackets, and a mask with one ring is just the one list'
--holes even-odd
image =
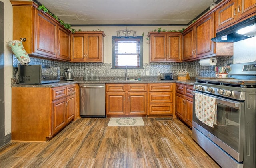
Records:
{"label": "brown wooden upper cabinet directly above the range hood", "polygon": [[216,10],[216,30],[235,24],[246,16],[255,13],[255,0],[230,0]]}

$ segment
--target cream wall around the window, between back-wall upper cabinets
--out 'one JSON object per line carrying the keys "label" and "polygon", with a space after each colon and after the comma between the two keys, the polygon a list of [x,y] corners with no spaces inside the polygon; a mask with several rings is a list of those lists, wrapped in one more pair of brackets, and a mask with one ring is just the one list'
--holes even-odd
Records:
{"label": "cream wall around the window, between back-wall upper cabinets", "polygon": [[[181,30],[181,26],[128,26],[127,29],[134,30],[137,32],[137,36],[142,36],[142,33],[144,32],[144,38],[143,38],[143,63],[149,62],[149,45],[148,40],[146,38],[148,37],[148,32],[153,30],[158,30],[158,28],[161,27],[165,30]],[[116,36],[118,30],[124,30],[126,29],[126,26],[108,26],[108,27],[72,27],[76,31],[81,29],[82,31],[93,31],[100,29],[101,31],[104,31],[106,34],[104,38],[104,63],[111,63],[112,62],[112,36]],[[124,34],[121,33],[121,36],[124,36]],[[132,34],[130,34],[132,36]]]}

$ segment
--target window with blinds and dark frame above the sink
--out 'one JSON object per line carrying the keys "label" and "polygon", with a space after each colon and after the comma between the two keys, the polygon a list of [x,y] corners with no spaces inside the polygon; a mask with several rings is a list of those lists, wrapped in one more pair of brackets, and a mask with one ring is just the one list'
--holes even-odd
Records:
{"label": "window with blinds and dark frame above the sink", "polygon": [[143,37],[116,38],[112,36],[112,68],[142,68]]}

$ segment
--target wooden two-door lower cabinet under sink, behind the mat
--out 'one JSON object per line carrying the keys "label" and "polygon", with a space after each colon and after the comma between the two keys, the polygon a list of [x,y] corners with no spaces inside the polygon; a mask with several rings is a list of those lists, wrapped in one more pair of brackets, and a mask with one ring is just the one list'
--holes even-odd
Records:
{"label": "wooden two-door lower cabinet under sink, behind the mat", "polygon": [[106,84],[106,115],[146,116],[148,84]]}

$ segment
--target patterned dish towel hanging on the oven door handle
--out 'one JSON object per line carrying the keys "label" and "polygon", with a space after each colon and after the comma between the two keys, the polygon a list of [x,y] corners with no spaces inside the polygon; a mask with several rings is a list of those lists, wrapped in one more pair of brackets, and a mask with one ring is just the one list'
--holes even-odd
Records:
{"label": "patterned dish towel hanging on the oven door handle", "polygon": [[214,97],[195,93],[196,118],[213,128],[217,124],[217,101]]}

